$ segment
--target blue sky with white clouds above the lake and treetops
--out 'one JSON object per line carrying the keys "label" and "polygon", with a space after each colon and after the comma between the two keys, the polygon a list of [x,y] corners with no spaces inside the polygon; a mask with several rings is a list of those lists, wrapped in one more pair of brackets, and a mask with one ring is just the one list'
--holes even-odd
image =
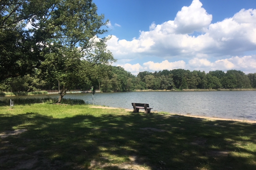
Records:
{"label": "blue sky with white clouds above the lake and treetops", "polygon": [[256,72],[256,0],[93,0],[121,66]]}

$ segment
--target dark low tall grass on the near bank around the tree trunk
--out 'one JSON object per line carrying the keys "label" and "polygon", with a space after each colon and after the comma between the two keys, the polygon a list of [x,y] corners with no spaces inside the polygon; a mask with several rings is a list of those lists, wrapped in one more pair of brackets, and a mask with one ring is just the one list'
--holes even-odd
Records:
{"label": "dark low tall grass on the near bank around the tree trunk", "polygon": [[[15,98],[14,104],[34,104],[34,103],[56,103],[58,98],[45,97],[45,98]],[[81,99],[62,98],[62,104],[85,104]],[[9,105],[10,100],[5,99],[0,101],[0,105]]]}

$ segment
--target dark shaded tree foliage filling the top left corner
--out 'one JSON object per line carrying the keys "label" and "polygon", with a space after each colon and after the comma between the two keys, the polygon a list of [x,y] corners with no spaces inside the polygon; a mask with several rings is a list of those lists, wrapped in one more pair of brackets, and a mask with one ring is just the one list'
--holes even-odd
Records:
{"label": "dark shaded tree foliage filling the top left corner", "polygon": [[[49,21],[60,0],[0,1],[0,82],[33,73],[56,26]],[[56,18],[55,18],[56,19]],[[32,28],[25,28],[28,24]]]}

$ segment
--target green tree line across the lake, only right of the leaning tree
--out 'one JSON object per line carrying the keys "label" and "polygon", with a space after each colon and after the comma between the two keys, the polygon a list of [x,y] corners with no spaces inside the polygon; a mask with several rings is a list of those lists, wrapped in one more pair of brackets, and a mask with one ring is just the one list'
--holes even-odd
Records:
{"label": "green tree line across the lake, only right of the leaning tree", "polygon": [[101,80],[102,91],[172,90],[172,89],[250,89],[256,88],[256,73],[240,70],[190,71],[185,69],[139,72],[137,76],[121,67],[113,67],[112,74]]}

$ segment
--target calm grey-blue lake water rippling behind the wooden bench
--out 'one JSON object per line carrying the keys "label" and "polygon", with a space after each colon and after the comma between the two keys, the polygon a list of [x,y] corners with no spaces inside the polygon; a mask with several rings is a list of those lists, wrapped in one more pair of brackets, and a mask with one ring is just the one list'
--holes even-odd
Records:
{"label": "calm grey-blue lake water rippling behind the wooden bench", "polygon": [[[22,97],[58,97],[38,95]],[[21,96],[18,96],[21,97]],[[16,97],[0,97],[15,101]],[[92,103],[92,94],[66,94],[64,98],[79,98]],[[256,91],[186,91],[186,92],[116,92],[96,93],[94,104],[132,109],[132,102],[149,103],[153,111],[207,117],[256,120]]]}

